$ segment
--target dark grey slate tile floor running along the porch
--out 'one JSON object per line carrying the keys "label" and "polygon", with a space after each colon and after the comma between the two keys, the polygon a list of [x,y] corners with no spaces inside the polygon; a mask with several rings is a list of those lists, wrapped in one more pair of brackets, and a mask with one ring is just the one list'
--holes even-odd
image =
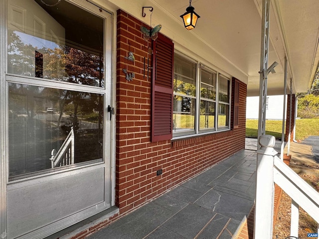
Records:
{"label": "dark grey slate tile floor running along the porch", "polygon": [[232,239],[254,205],[256,158],[241,150],[88,239]]}

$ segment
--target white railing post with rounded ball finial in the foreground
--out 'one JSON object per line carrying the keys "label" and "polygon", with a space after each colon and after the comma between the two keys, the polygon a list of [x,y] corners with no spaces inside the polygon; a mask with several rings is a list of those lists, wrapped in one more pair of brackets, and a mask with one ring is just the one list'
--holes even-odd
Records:
{"label": "white railing post with rounded ball finial in the foreground", "polygon": [[259,137],[255,198],[254,239],[273,238],[274,217],[274,150],[276,139],[272,135]]}

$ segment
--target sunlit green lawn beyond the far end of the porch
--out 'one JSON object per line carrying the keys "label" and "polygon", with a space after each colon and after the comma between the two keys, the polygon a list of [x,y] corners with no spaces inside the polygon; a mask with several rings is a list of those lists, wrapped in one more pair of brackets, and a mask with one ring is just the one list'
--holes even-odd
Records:
{"label": "sunlit green lawn beyond the far end of the porch", "polygon": [[[282,136],[282,120],[266,120],[266,134],[277,139]],[[257,137],[258,120],[246,120],[246,137]],[[292,129],[293,130],[293,129]],[[303,140],[311,135],[319,135],[319,119],[297,119],[296,140]]]}

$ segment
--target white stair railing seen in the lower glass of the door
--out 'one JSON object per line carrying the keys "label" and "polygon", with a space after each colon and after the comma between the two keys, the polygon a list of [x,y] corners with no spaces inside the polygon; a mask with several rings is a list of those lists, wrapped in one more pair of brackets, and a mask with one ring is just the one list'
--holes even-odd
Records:
{"label": "white stair railing seen in the lower glass of the door", "polygon": [[65,165],[74,164],[74,131],[71,127],[71,131],[64,140],[59,151],[55,149],[51,152],[51,167],[60,167]]}

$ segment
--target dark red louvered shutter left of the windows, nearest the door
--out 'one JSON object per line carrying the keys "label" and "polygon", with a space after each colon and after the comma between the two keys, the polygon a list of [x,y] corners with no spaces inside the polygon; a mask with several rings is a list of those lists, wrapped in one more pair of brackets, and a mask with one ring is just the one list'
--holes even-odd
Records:
{"label": "dark red louvered shutter left of the windows, nearest the door", "polygon": [[152,142],[172,138],[174,44],[159,34],[153,41]]}

